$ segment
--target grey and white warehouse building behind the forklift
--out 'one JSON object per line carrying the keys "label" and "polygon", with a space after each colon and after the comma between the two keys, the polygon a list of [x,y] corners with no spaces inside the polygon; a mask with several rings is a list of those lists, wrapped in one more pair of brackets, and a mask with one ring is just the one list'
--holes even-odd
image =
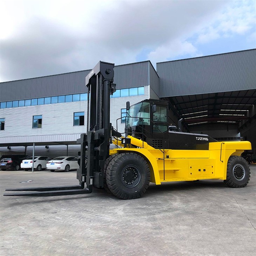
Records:
{"label": "grey and white warehouse building behind the forklift", "polygon": [[[95,61],[96,64],[97,60]],[[111,62],[111,60],[109,60]],[[77,155],[86,132],[90,70],[0,83],[0,156]],[[256,49],[115,66],[110,122],[124,131],[126,101],[169,102],[171,123],[217,140],[249,140],[256,153]],[[116,119],[119,119],[116,121]]]}

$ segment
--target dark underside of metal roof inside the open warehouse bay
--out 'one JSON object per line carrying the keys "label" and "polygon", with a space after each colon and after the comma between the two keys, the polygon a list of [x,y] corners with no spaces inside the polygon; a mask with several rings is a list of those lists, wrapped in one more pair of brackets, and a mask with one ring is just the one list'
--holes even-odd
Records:
{"label": "dark underside of metal roof inside the open warehouse bay", "polygon": [[248,110],[256,104],[256,89],[164,97],[174,105],[184,122],[238,123],[247,120]]}

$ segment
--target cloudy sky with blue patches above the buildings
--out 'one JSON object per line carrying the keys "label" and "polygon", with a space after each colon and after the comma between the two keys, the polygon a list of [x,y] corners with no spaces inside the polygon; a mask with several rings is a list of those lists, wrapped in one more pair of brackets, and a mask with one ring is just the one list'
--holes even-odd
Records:
{"label": "cloudy sky with blue patches above the buildings", "polygon": [[0,1],[0,82],[253,48],[256,1]]}

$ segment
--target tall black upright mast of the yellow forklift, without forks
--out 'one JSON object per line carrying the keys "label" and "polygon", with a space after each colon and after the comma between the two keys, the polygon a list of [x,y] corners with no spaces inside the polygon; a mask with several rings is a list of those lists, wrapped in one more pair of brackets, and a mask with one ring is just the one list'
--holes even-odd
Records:
{"label": "tall black upright mast of the yellow forklift, without forks", "polygon": [[103,188],[104,163],[109,156],[111,139],[110,94],[115,92],[114,64],[99,61],[86,76],[87,133],[77,140],[81,144],[80,168],[77,179]]}

